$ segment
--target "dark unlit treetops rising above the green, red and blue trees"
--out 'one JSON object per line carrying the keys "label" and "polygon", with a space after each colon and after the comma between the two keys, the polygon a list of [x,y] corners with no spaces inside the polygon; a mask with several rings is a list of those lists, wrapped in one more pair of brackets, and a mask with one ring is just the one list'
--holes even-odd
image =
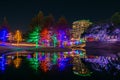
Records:
{"label": "dark unlit treetops rising above the green, red and blue trees", "polygon": [[33,30],[35,26],[40,26],[41,29],[65,29],[70,27],[65,17],[61,16],[58,21],[56,21],[52,14],[44,16],[42,11],[39,11],[39,13],[32,18],[29,26],[30,30]]}

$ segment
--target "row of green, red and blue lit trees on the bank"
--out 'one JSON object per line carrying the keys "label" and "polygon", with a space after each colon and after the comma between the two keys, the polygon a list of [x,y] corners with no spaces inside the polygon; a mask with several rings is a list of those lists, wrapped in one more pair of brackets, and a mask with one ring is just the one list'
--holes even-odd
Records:
{"label": "row of green, red and blue lit trees on the bank", "polygon": [[43,29],[43,31],[40,32],[39,28],[36,28],[33,33],[29,35],[28,42],[36,43],[37,46],[41,47],[66,47],[73,44],[79,45],[85,43],[85,40],[71,40],[70,36],[67,36],[64,30],[53,32],[48,29]]}

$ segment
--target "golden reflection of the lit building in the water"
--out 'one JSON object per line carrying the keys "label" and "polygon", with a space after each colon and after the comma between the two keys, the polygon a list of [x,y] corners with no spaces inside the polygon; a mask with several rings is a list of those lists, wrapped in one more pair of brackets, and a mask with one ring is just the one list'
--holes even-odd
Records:
{"label": "golden reflection of the lit building in the water", "polygon": [[91,72],[88,70],[88,68],[84,65],[84,63],[81,62],[81,58],[85,58],[86,51],[82,50],[75,50],[73,57],[73,72],[74,74],[80,75],[80,76],[90,76]]}

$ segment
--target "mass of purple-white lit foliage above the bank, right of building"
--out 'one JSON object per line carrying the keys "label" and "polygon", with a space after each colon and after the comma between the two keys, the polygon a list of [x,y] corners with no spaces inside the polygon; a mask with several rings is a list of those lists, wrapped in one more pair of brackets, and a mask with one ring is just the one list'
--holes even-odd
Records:
{"label": "mass of purple-white lit foliage above the bank, right of building", "polygon": [[120,41],[120,28],[110,30],[112,24],[95,25],[87,30],[85,38],[87,41]]}

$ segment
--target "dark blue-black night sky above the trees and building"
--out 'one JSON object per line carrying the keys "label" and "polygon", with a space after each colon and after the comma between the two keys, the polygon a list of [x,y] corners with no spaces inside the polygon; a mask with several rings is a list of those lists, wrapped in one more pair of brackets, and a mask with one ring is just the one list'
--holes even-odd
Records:
{"label": "dark blue-black night sky above the trees and building", "polygon": [[39,11],[56,19],[65,16],[71,24],[79,19],[95,21],[120,11],[120,0],[0,0],[0,23],[6,16],[12,29],[26,30]]}

